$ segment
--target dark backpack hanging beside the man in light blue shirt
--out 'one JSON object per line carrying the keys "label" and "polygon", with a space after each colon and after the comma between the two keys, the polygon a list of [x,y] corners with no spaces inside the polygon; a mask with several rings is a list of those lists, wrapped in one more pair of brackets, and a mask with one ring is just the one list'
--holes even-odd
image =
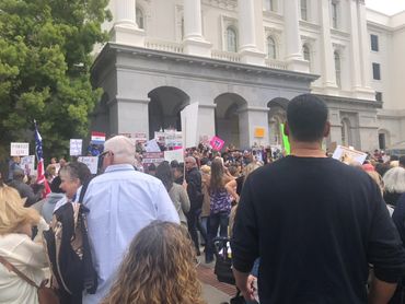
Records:
{"label": "dark backpack hanging beside the man in light blue shirt", "polygon": [[65,203],[56,210],[50,229],[43,233],[51,283],[61,295],[80,296],[83,290],[94,294],[97,289],[88,238],[89,209],[81,203],[88,185],[82,187],[80,202]]}

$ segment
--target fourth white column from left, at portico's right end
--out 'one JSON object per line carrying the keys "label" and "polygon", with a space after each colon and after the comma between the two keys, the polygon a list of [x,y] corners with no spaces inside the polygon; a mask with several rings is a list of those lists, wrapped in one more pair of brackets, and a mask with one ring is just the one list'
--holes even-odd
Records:
{"label": "fourth white column from left, at portico's right end", "polygon": [[300,37],[300,14],[297,0],[285,0],[286,28],[286,60],[288,69],[299,72],[309,72],[310,66],[302,57],[302,42]]}

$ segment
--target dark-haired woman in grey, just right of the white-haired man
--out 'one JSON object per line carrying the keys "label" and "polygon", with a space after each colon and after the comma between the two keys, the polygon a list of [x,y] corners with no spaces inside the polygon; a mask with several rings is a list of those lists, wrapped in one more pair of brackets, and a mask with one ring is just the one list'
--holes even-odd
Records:
{"label": "dark-haired woman in grey, just right of the white-haired man", "polygon": [[167,162],[161,163],[157,167],[157,174],[160,180],[162,180],[163,186],[166,188],[170,198],[177,210],[178,218],[182,224],[187,226],[186,213],[189,211],[189,199],[186,189],[173,183],[173,172]]}

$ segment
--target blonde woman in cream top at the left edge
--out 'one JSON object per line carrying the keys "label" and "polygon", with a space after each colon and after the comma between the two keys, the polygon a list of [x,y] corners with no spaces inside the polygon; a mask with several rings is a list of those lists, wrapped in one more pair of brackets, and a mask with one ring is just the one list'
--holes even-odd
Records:
{"label": "blonde woman in cream top at the left edge", "polygon": [[[42,221],[35,209],[24,208],[14,188],[0,187],[0,256],[38,285],[47,259],[44,247],[32,241],[32,227]],[[37,289],[0,264],[0,303],[36,304]]]}

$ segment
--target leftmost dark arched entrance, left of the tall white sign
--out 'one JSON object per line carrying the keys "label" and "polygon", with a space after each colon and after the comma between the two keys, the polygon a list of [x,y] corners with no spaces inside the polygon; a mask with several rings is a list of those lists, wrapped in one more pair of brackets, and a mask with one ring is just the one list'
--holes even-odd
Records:
{"label": "leftmost dark arched entrance, left of the tall white sign", "polygon": [[173,86],[160,86],[149,92],[149,138],[161,129],[182,130],[180,113],[189,104],[189,96]]}

